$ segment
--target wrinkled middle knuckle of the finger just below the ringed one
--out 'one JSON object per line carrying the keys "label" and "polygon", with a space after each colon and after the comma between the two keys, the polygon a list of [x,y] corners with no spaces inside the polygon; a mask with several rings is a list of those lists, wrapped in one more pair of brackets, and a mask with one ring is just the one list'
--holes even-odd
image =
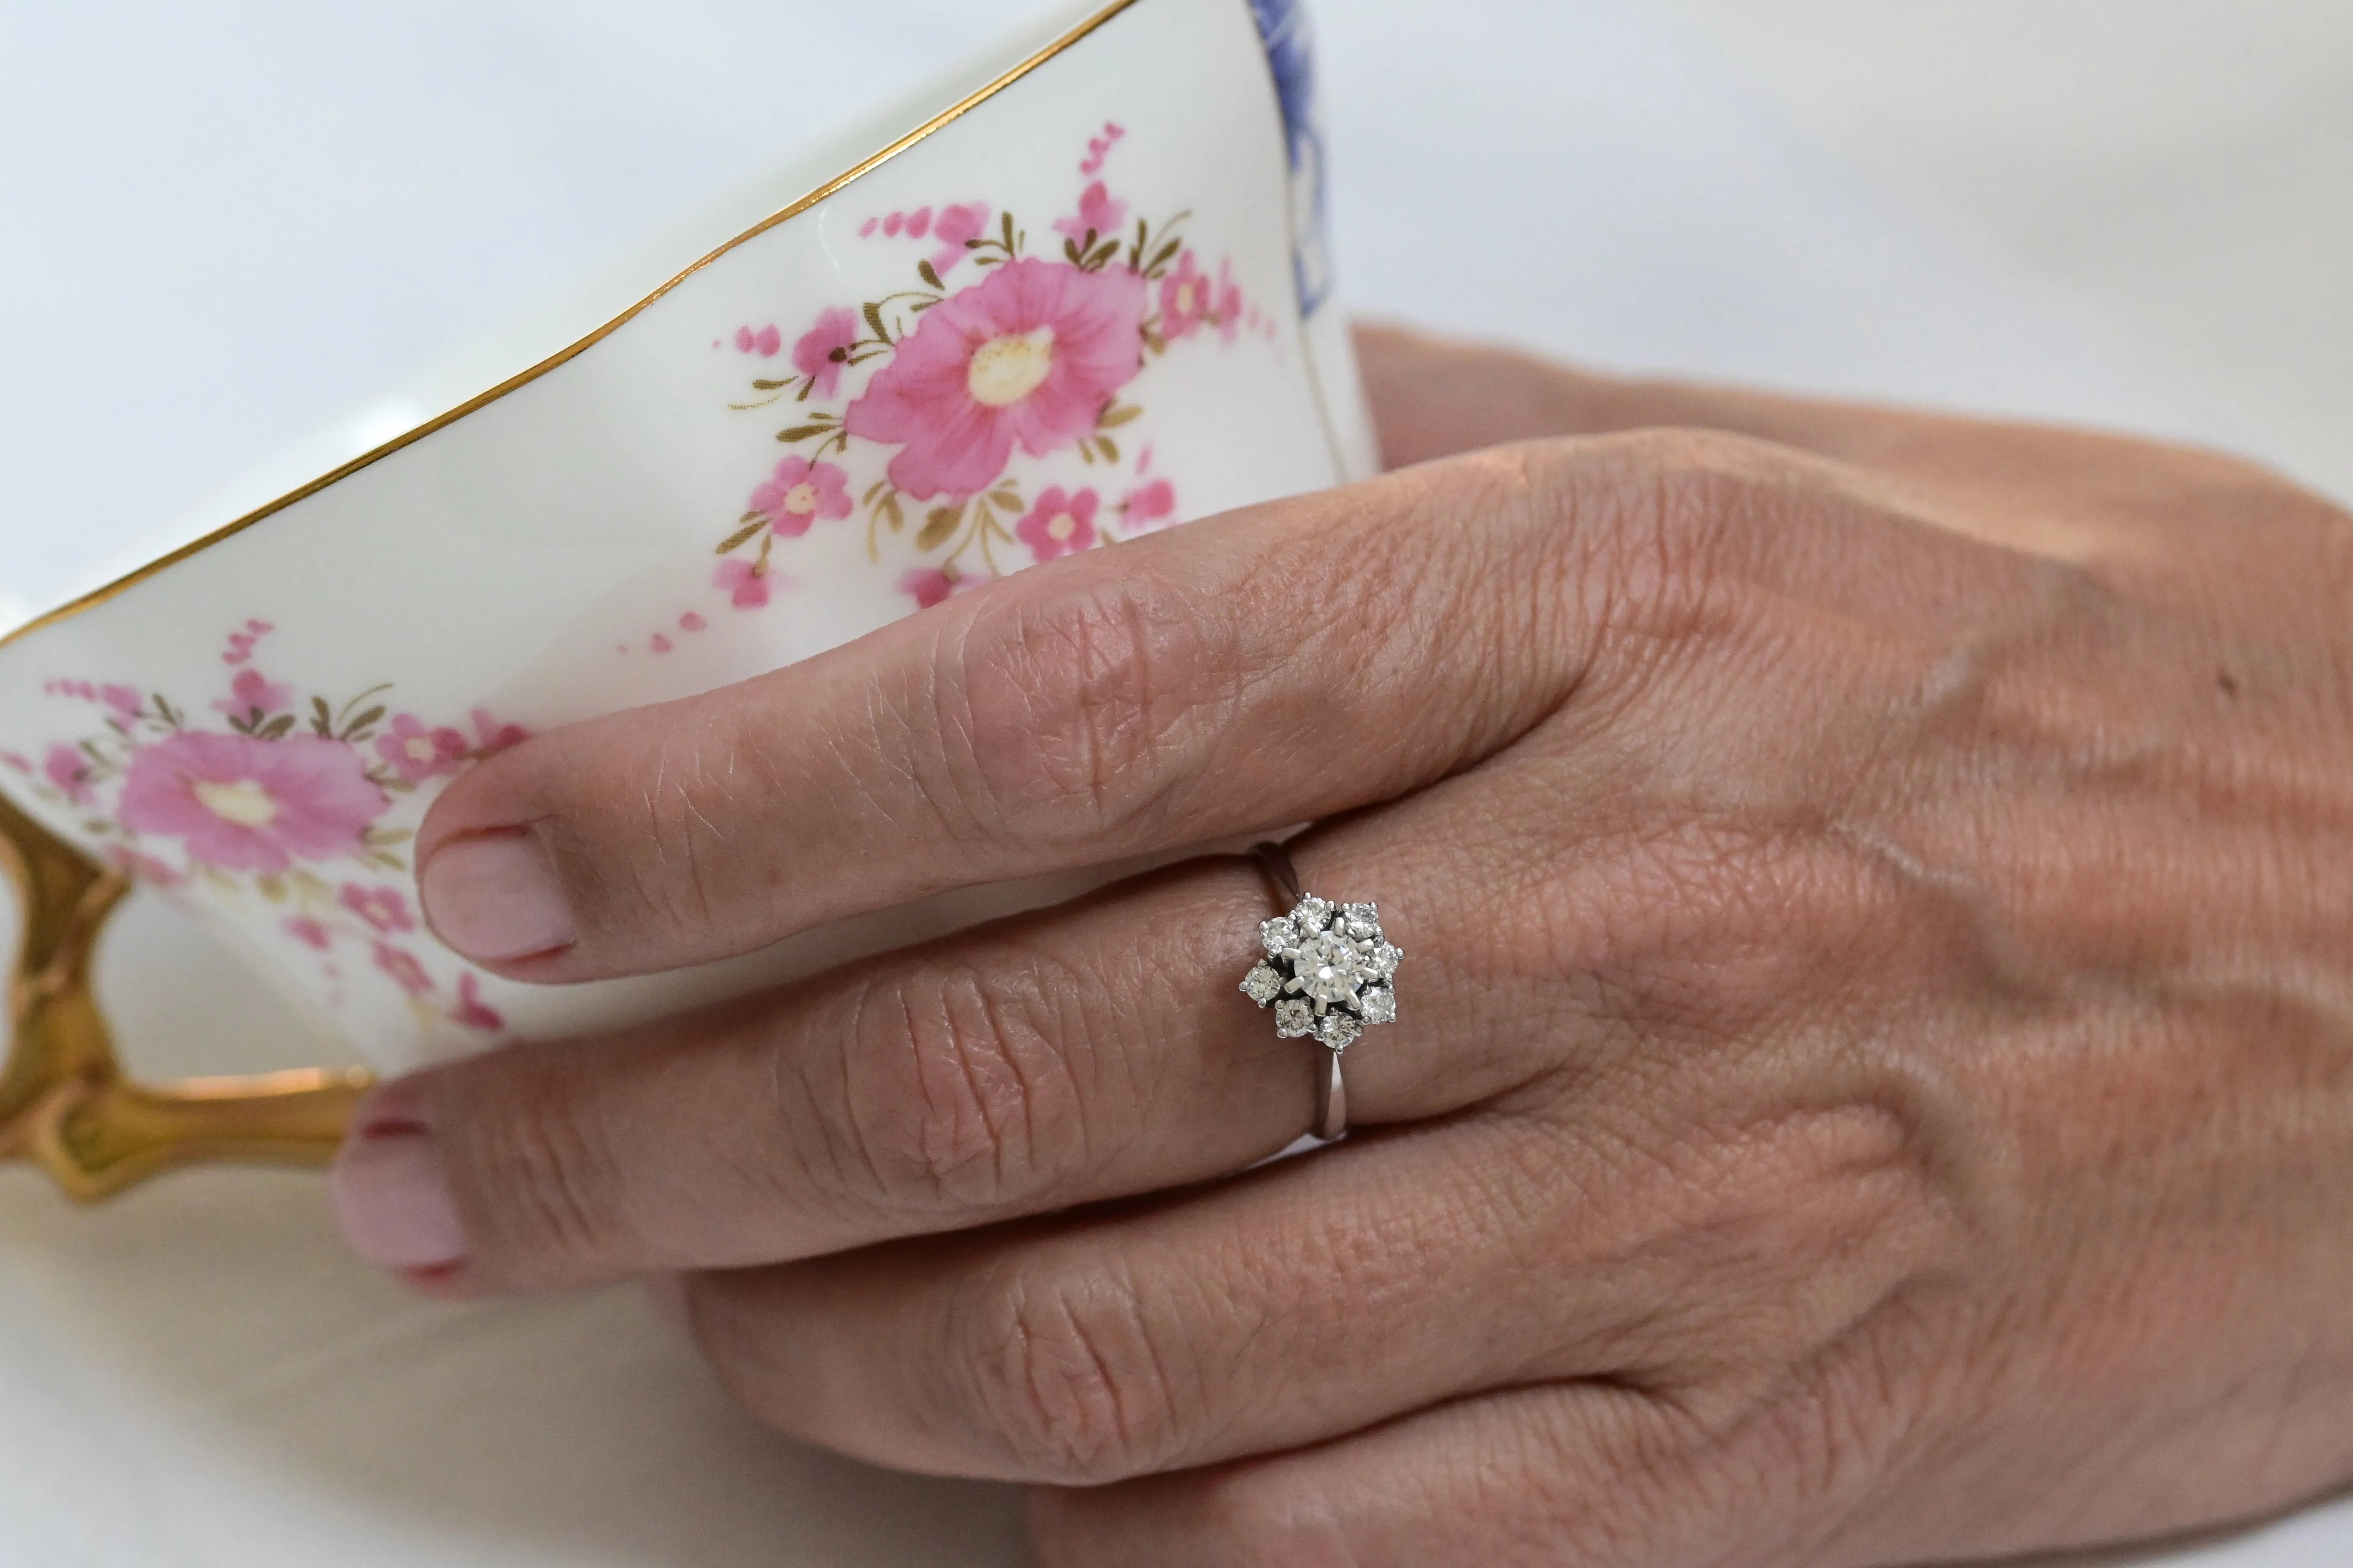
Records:
{"label": "wrinkled middle knuckle of the finger just below the ringed one", "polygon": [[1169,1361],[1134,1279],[1087,1267],[998,1288],[960,1314],[976,1345],[972,1418],[1035,1481],[1099,1486],[1160,1469],[1176,1448]]}

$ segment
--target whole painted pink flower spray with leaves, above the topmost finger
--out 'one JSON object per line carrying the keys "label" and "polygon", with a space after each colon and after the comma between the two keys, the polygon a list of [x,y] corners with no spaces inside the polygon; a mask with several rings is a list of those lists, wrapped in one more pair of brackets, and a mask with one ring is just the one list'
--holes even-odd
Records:
{"label": "whole painted pink flower spray with leaves, above the topmost finger", "polygon": [[[1038,252],[1021,214],[991,202],[861,221],[859,240],[896,247],[913,275],[824,308],[793,343],[800,376],[755,376],[729,402],[772,409],[765,435],[793,456],[715,534],[720,595],[755,611],[798,592],[795,550],[824,550],[835,571],[845,541],[809,538],[819,522],[859,520],[866,559],[929,609],[1016,567],[1176,520],[1176,484],[1153,470],[1153,393],[1139,393],[1139,378],[1162,357],[1233,348],[1242,327],[1268,343],[1278,331],[1233,259],[1193,247],[1191,209],[1129,200],[1111,172],[1125,141],[1115,122],[1087,139],[1073,202]],[[767,353],[758,339],[753,348]],[[673,625],[708,623],[694,611],[664,618],[616,651],[668,654],[680,646]]]}

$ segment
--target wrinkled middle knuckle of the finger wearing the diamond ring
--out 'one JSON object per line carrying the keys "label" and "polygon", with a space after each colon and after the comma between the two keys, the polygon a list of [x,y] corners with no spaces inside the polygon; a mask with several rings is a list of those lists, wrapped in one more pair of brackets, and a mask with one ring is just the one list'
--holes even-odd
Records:
{"label": "wrinkled middle knuckle of the finger wearing the diamond ring", "polygon": [[1071,985],[1040,961],[934,959],[859,992],[840,1032],[852,1180],[892,1208],[998,1211],[1082,1168]]}

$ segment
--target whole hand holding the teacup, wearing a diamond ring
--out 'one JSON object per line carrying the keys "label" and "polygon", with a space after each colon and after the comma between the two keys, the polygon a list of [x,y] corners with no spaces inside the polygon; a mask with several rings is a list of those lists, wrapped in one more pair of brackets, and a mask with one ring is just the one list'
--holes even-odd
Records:
{"label": "whole hand holding the teacup, wearing a diamond ring", "polygon": [[1346,1143],[1252,1168],[1318,1048],[1209,856],[393,1084],[360,1251],[685,1274],[751,1410],[1045,1483],[1049,1568],[1840,1568],[2353,1479],[2348,520],[1362,346],[1417,468],[541,736],[421,837],[558,983],[1318,820],[1409,954]]}

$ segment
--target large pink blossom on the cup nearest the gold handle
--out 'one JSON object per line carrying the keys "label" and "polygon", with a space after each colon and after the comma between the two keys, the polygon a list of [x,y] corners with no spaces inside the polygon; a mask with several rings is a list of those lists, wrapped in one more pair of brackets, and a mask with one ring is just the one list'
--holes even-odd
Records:
{"label": "large pink blossom on the cup nearest the gold handle", "polygon": [[268,877],[294,860],[358,853],[386,804],[341,741],[188,731],[132,755],[120,818],[132,832],[181,839],[205,865]]}

